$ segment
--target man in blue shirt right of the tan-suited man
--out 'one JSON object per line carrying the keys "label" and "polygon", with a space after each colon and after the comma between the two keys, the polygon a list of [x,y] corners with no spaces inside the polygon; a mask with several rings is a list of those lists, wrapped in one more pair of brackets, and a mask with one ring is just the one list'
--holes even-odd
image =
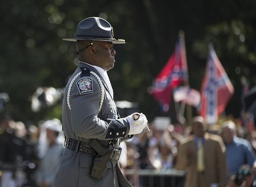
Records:
{"label": "man in blue shirt right of the tan-suited man", "polygon": [[243,164],[252,167],[256,154],[249,141],[236,136],[236,124],[233,121],[222,123],[222,138],[226,146],[228,178],[235,175]]}

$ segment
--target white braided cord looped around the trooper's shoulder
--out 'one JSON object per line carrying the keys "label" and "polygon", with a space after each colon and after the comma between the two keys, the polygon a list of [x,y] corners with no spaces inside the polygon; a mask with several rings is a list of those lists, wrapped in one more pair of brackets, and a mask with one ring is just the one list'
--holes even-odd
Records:
{"label": "white braided cord looped around the trooper's shoulder", "polygon": [[[70,98],[71,88],[72,88],[72,85],[74,84],[76,78],[77,78],[78,76],[80,76],[81,73],[82,73],[82,71],[80,71],[79,73],[76,74],[76,76],[71,80],[71,82],[70,82],[70,84],[69,84],[69,87],[68,87],[67,102],[68,102],[68,108],[69,108],[70,110],[71,110],[71,107],[70,107],[69,98]],[[101,107],[102,107],[102,103],[103,103],[103,100],[104,100],[104,86],[103,86],[103,84],[102,84],[102,82],[101,82],[101,80],[100,80],[100,77],[99,77],[96,73],[94,73],[93,71],[90,71],[90,73],[91,73],[92,75],[94,75],[94,76],[97,78],[97,80],[99,81],[99,83],[100,83],[100,92],[101,92],[100,109],[99,109],[99,113],[100,113],[100,110],[101,110]]]}

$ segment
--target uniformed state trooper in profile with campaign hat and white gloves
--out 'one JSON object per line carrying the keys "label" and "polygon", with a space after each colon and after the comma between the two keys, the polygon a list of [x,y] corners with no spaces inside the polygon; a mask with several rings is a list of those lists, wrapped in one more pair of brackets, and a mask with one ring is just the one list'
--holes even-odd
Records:
{"label": "uniformed state trooper in profile with campaign hat and white gloves", "polygon": [[120,171],[120,142],[142,132],[147,118],[133,113],[120,118],[107,71],[114,67],[116,40],[102,18],[82,20],[76,30],[78,67],[66,86],[62,106],[65,149],[53,187],[132,186]]}

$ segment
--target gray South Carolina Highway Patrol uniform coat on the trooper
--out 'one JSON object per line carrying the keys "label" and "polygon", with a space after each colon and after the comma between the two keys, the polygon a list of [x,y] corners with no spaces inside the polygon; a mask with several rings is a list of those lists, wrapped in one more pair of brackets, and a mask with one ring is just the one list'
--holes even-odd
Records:
{"label": "gray South Carolina Highway Patrol uniform coat on the trooper", "polygon": [[[82,71],[83,69],[87,71]],[[100,83],[95,75],[88,73],[88,69],[96,73],[104,85],[101,109]],[[129,139],[129,123],[125,118],[118,119],[116,104],[105,81],[95,68],[85,63],[79,62],[78,68],[69,79],[64,92],[62,115],[63,131],[67,138],[82,142],[98,139],[104,146],[108,146],[111,140],[118,138],[115,149],[118,149],[120,140]],[[110,119],[114,119],[117,124],[113,124]],[[108,169],[101,179],[90,176],[92,160],[91,154],[65,148],[56,168],[52,187],[132,186],[121,173],[116,160],[108,161],[106,165]]]}

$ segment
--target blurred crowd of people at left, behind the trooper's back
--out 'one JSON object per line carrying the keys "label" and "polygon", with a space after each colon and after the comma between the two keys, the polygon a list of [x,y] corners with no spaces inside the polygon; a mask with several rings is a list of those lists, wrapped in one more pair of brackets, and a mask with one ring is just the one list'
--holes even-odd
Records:
{"label": "blurred crowd of people at left, behind the trooper's back", "polygon": [[0,119],[0,186],[51,187],[56,166],[64,150],[60,120],[38,125]]}

